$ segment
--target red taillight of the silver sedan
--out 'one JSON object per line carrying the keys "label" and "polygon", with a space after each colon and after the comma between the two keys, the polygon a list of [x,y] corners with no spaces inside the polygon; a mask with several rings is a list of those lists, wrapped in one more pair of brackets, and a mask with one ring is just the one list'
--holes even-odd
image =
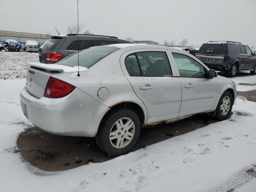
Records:
{"label": "red taillight of the silver sedan", "polygon": [[44,90],[44,97],[61,98],[70,94],[75,88],[67,82],[50,77]]}

